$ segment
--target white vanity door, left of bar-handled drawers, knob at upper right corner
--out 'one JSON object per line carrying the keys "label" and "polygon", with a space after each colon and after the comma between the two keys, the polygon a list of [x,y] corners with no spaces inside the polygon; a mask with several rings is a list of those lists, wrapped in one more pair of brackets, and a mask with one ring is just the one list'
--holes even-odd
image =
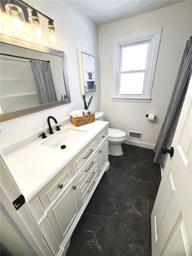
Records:
{"label": "white vanity door, left of bar-handled drawers, knob at upper right corner", "polygon": [[76,187],[74,186],[74,181],[72,181],[47,213],[48,219],[60,244],[70,230],[79,212]]}

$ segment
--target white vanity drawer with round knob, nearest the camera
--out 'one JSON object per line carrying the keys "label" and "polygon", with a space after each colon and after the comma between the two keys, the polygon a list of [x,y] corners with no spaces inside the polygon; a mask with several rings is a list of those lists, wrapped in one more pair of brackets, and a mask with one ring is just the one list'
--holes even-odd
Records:
{"label": "white vanity drawer with round knob, nearest the camera", "polygon": [[69,165],[65,168],[62,173],[57,176],[57,178],[48,183],[44,188],[44,191],[38,194],[39,199],[43,205],[43,208],[46,210],[47,207],[53,202],[53,200],[59,195],[64,187],[67,185],[69,180],[72,178],[71,166]]}

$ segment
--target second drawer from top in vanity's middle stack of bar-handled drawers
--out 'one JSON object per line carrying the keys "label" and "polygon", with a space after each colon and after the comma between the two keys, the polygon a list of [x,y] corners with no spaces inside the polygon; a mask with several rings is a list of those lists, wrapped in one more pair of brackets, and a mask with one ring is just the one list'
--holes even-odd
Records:
{"label": "second drawer from top in vanity's middle stack of bar-handled drawers", "polygon": [[87,176],[93,172],[95,166],[98,165],[97,152],[90,158],[85,166],[82,167],[81,171],[75,178],[75,184],[78,186]]}

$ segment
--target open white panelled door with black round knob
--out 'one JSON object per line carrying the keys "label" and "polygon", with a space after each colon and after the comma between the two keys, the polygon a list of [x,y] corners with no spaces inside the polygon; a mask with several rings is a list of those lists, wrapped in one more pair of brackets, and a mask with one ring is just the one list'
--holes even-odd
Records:
{"label": "open white panelled door with black round knob", "polygon": [[192,255],[192,79],[151,215],[152,256]]}

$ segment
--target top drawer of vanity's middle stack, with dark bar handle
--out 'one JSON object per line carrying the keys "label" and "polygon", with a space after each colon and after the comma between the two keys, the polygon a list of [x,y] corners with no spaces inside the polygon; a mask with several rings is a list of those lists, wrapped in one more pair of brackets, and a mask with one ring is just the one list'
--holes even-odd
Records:
{"label": "top drawer of vanity's middle stack, with dark bar handle", "polygon": [[89,161],[90,157],[93,155],[94,150],[97,147],[97,139],[94,139],[86,149],[73,161],[73,171],[74,175],[81,169],[81,167]]}

